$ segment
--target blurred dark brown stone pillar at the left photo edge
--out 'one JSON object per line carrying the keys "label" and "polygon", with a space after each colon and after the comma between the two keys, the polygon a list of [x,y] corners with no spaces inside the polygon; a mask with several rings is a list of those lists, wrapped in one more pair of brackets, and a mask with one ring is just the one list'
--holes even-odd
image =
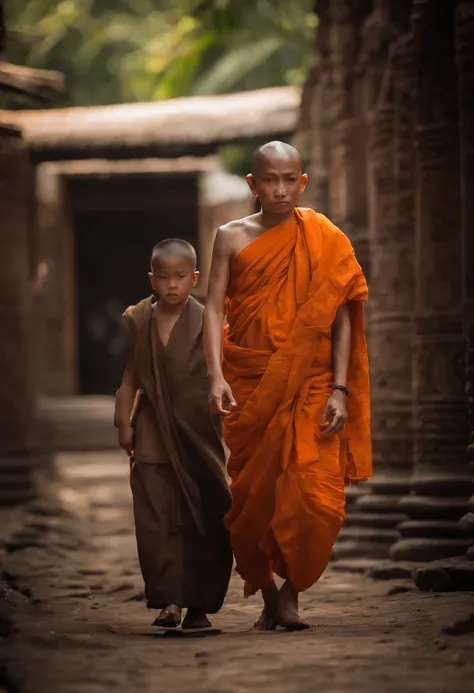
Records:
{"label": "blurred dark brown stone pillar at the left photo edge", "polygon": [[34,497],[29,327],[32,174],[20,132],[0,126],[0,505]]}

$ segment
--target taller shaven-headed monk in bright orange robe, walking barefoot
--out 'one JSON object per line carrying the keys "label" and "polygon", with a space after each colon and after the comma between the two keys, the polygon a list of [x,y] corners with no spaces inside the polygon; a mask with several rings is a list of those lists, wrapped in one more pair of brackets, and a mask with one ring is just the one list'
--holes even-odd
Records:
{"label": "taller shaven-headed monk in bright orange robe, walking barefoot", "polygon": [[371,474],[367,285],[342,231],[297,207],[296,149],[258,149],[247,182],[261,211],[217,232],[204,351],[231,453],[226,526],[245,595],[264,600],[255,626],[298,630],[298,594],[328,564],[344,486]]}

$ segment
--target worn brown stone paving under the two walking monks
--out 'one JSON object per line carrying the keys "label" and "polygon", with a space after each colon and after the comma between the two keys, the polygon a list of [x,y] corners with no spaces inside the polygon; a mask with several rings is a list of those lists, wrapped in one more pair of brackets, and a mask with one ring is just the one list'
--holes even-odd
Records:
{"label": "worn brown stone paving under the two walking monks", "polygon": [[420,592],[337,564],[302,596],[309,631],[254,631],[258,599],[243,599],[235,575],[213,618],[219,635],[158,634],[143,602],[126,458],[60,454],[56,470],[0,557],[0,692],[472,690],[472,593]]}

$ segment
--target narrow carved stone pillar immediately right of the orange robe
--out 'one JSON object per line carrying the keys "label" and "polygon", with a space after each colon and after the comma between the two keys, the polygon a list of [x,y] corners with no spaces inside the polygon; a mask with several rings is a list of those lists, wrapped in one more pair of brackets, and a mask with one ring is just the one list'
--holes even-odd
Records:
{"label": "narrow carved stone pillar immediately right of the orange robe", "polygon": [[[388,79],[392,80],[391,74]],[[383,557],[397,538],[398,504],[411,463],[410,238],[397,228],[393,85],[377,106],[370,139],[369,188],[372,444],[374,478],[351,518],[364,555]],[[408,266],[403,261],[408,260]],[[356,538],[356,537],[354,537]]]}

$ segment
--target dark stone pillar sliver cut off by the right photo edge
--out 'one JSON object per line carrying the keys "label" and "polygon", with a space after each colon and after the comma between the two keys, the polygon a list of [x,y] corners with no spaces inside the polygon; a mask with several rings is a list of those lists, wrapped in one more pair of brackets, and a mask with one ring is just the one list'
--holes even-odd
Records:
{"label": "dark stone pillar sliver cut off by the right photo edge", "polygon": [[[468,460],[474,476],[474,2],[464,2],[457,8],[455,38],[461,145],[462,303],[469,412]],[[468,536],[474,536],[474,495],[469,501],[469,513],[461,520],[461,527]],[[467,555],[474,559],[474,546],[468,549]]]}

